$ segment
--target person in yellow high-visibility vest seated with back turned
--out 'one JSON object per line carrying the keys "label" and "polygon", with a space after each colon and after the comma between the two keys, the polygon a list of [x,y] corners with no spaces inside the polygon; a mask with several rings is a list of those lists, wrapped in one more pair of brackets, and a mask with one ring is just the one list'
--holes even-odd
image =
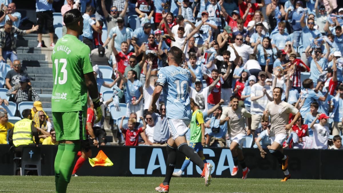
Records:
{"label": "person in yellow high-visibility vest seated with back turned", "polygon": [[[31,109],[25,109],[22,115],[24,118],[14,124],[8,136],[9,144],[15,147],[14,152],[17,157],[21,157],[23,146],[39,144],[38,131],[32,121]],[[35,143],[33,137],[35,137]]]}

